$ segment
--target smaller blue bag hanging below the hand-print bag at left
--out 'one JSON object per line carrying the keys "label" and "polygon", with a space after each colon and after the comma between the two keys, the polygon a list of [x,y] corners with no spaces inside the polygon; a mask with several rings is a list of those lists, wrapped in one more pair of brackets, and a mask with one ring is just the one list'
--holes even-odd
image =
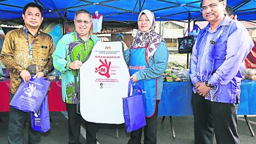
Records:
{"label": "smaller blue bag hanging below the hand-print bag at left", "polygon": [[43,100],[40,111],[31,113],[31,125],[37,132],[47,132],[51,129],[47,96]]}

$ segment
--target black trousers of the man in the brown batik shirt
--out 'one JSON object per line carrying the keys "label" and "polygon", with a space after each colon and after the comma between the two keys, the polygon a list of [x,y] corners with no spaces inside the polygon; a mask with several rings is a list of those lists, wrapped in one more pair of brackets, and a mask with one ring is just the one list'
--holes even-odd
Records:
{"label": "black trousers of the man in the brown batik shirt", "polygon": [[[12,99],[14,94],[10,94],[10,99]],[[9,144],[22,144],[24,143],[24,128],[26,125],[26,120],[30,113],[25,113],[18,109],[14,109],[10,106],[9,111],[9,126],[8,126],[8,143]],[[32,130],[31,121],[29,121],[28,130],[28,143],[36,144],[41,141],[41,133]]]}

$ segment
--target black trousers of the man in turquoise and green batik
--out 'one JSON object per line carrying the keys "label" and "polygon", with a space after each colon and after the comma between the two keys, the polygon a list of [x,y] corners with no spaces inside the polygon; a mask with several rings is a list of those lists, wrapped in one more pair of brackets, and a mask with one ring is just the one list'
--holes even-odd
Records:
{"label": "black trousers of the man in turquoise and green batik", "polygon": [[[69,142],[72,144],[79,144],[80,131],[81,131],[81,115],[77,114],[76,104],[66,103],[68,112],[68,137]],[[86,122],[86,143],[96,144],[96,134],[98,132],[98,124],[93,122]]]}

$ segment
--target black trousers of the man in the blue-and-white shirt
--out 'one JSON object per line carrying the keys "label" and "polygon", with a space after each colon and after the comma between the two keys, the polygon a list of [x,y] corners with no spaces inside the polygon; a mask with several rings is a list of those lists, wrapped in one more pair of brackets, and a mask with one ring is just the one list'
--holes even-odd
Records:
{"label": "black trousers of the man in the blue-and-white shirt", "polygon": [[237,131],[238,105],[211,102],[199,94],[193,94],[192,107],[196,144],[212,144],[214,134],[217,144],[240,143]]}

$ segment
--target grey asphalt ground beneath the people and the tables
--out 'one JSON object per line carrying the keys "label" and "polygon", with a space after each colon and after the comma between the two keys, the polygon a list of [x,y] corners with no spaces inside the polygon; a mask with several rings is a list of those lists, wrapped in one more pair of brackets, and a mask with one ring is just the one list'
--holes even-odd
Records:
{"label": "grey asphalt ground beneath the people and the tables", "polygon": [[[51,112],[51,130],[42,134],[41,144],[59,144],[68,143],[68,120],[66,112]],[[162,117],[158,117],[158,144],[193,144],[194,128],[193,117],[173,117],[173,126],[176,138],[173,138],[171,132],[170,120],[168,117],[161,122]],[[256,132],[256,116],[249,117],[253,130]],[[7,128],[9,113],[0,113],[0,144],[7,143]],[[85,122],[81,124],[81,143],[85,143]],[[118,128],[118,137],[116,133]],[[244,117],[238,117],[238,133],[241,144],[256,143],[256,136],[252,137]],[[28,122],[24,132],[25,143],[28,143]],[[98,132],[98,143],[100,144],[126,144],[129,134],[125,132],[125,125],[120,124],[101,124]],[[213,143],[216,143],[215,141]]]}

